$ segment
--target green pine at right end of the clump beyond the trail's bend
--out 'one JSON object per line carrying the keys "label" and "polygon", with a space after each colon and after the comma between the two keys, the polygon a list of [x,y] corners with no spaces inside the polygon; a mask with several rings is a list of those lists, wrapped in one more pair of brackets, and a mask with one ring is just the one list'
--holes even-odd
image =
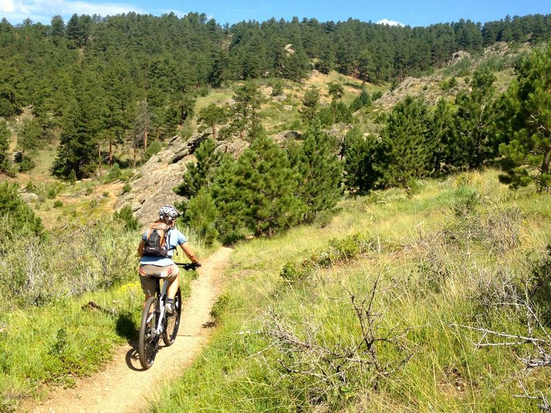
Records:
{"label": "green pine at right end of the clump beyond the trail's bend", "polygon": [[299,173],[298,198],[306,204],[304,222],[335,207],[342,193],[342,165],[336,154],[337,142],[322,131],[319,123],[306,131],[302,145],[289,148],[291,166]]}

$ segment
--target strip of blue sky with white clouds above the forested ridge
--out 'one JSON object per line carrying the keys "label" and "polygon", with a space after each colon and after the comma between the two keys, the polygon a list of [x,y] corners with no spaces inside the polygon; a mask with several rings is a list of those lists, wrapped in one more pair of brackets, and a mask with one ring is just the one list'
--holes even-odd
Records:
{"label": "strip of blue sky with white clouds above the forested ridge", "polygon": [[13,24],[21,23],[26,17],[48,24],[56,14],[61,14],[67,21],[74,13],[107,16],[129,11],[154,15],[174,12],[180,17],[187,12],[202,12],[220,24],[251,19],[265,21],[271,17],[290,20],[296,16],[299,19],[314,17],[318,21],[343,21],[352,17],[362,21],[416,26],[457,21],[461,17],[484,23],[503,19],[507,14],[511,17],[551,14],[551,0],[0,0],[0,17],[6,17]]}

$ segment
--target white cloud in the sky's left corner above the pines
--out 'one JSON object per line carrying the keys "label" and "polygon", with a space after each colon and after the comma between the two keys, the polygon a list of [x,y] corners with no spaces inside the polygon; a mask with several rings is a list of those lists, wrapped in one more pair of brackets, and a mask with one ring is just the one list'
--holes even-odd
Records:
{"label": "white cloud in the sky's left corner above the pines", "polygon": [[137,12],[146,13],[138,6],[129,3],[71,0],[0,0],[1,17],[6,17],[12,23],[19,23],[26,17],[32,21],[50,23],[50,19],[56,14],[70,17],[72,14],[100,14],[108,16],[113,14]]}

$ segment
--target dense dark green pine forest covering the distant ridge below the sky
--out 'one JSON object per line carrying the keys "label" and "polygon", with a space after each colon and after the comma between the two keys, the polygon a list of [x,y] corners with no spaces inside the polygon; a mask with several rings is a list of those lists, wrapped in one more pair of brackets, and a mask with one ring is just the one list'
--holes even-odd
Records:
{"label": "dense dark green pine forest covering the distant ridge below the sky", "polygon": [[[0,23],[0,116],[32,107],[25,153],[37,142],[61,140],[54,173],[90,176],[98,151],[173,136],[194,114],[205,87],[275,77],[298,81],[312,67],[337,70],[371,83],[401,80],[443,64],[457,50],[495,41],[538,43],[551,36],[551,17],[533,15],[477,25],[472,21],[427,28],[391,27],[350,19],[320,23],[242,22],[221,27],[205,14],[152,17],[74,15],[50,25]],[[136,162],[134,153],[125,154]]]}

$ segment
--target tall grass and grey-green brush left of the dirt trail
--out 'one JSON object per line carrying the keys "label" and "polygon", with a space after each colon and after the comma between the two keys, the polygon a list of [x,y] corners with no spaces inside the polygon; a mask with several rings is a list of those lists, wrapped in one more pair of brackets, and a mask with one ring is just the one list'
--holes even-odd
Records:
{"label": "tall grass and grey-green brush left of the dirt trail", "polygon": [[[198,234],[183,231],[204,257]],[[114,346],[136,339],[140,233],[103,220],[45,239],[0,237],[0,412],[11,412],[21,399],[41,397],[44,385],[74,385],[111,359]],[[186,272],[180,282],[185,296],[190,280]]]}

